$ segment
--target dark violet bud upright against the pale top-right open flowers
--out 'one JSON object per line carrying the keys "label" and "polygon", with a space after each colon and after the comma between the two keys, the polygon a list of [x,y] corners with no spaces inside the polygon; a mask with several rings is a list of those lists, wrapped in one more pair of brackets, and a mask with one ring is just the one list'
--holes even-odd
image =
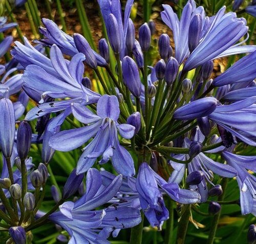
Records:
{"label": "dark violet bud upright against the pale top-right open flowers", "polygon": [[188,48],[190,53],[198,46],[202,31],[202,17],[196,14],[190,21],[188,30]]}

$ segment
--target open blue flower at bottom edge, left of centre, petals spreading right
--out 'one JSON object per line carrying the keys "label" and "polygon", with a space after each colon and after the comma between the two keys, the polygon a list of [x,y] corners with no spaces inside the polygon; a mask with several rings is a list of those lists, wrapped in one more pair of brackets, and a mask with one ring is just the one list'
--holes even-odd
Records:
{"label": "open blue flower at bottom edge, left of centre, petals spreading right", "polygon": [[108,207],[95,210],[109,202],[118,192],[122,176],[115,177],[108,186],[102,185],[102,177],[95,168],[87,173],[86,193],[75,203],[65,202],[59,212],[49,219],[67,230],[71,236],[69,244],[110,243],[106,238],[115,229],[131,228],[141,222],[139,210]]}

